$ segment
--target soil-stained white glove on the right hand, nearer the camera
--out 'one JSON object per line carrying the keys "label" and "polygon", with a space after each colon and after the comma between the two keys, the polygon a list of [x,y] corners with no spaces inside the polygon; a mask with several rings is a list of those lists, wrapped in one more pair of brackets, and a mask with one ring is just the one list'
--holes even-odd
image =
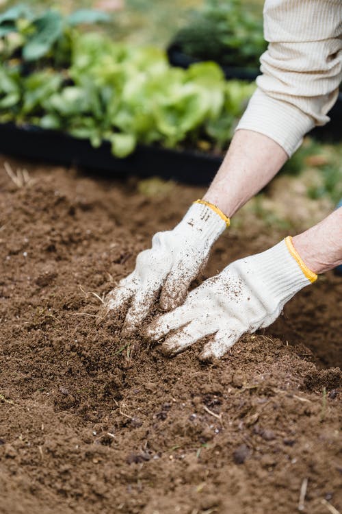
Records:
{"label": "soil-stained white glove on the right hand, nearer the camera", "polygon": [[167,355],[210,336],[200,358],[220,358],[242,334],[273,323],[286,302],[316,279],[289,236],[266,252],[237,260],[205,280],[187,295],[182,306],[157,317],[146,336],[161,343]]}

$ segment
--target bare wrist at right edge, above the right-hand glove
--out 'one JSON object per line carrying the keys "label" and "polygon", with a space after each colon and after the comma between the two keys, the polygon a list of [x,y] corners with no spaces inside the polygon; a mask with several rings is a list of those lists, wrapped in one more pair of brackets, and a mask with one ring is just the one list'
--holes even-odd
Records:
{"label": "bare wrist at right edge, above the right-hand glove", "polygon": [[317,225],[293,237],[293,246],[314,273],[342,264],[342,207]]}

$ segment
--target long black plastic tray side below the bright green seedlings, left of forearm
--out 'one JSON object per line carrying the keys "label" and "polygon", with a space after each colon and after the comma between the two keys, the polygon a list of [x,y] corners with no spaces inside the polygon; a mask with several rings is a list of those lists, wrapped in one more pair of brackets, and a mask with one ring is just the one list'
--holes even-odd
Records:
{"label": "long black plastic tray side below the bright green seedlings, left of forearm", "polygon": [[105,141],[94,148],[89,140],[31,125],[0,124],[0,153],[19,158],[83,167],[101,175],[150,177],[158,175],[187,184],[209,184],[222,157],[196,151],[179,151],[140,145],[130,156],[119,159]]}

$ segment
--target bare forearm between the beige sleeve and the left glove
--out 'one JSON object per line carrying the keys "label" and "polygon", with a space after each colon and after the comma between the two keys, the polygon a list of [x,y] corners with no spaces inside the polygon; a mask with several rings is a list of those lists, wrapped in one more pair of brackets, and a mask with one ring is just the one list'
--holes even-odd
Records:
{"label": "bare forearm between the beige sleeve and the left glove", "polygon": [[232,217],[274,178],[287,159],[285,150],[271,138],[252,130],[237,130],[203,198]]}

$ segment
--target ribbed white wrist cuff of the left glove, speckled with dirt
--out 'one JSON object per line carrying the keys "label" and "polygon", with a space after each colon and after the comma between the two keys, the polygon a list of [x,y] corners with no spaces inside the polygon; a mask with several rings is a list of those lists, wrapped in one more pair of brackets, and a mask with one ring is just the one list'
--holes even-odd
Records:
{"label": "ribbed white wrist cuff of the left glove, speckled with dirt", "polygon": [[192,234],[209,245],[215,243],[226,229],[226,222],[220,215],[204,204],[192,204],[179,226],[183,223],[191,225],[194,228]]}

